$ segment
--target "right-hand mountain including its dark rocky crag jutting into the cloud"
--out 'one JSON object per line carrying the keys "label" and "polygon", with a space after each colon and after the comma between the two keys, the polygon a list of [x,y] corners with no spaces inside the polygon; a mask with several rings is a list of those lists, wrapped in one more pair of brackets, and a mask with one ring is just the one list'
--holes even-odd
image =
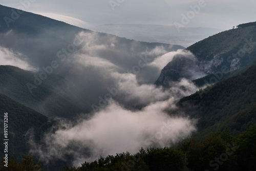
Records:
{"label": "right-hand mountain including its dark rocky crag jutting into the cloud", "polygon": [[[256,26],[252,24],[242,26],[215,34],[186,48],[193,53],[193,57],[184,60],[176,56],[161,71],[156,84],[169,87],[169,82],[177,80],[175,78],[177,73],[192,80],[191,76],[184,75],[184,68],[188,71],[196,68],[206,75],[224,74],[252,63],[256,59]],[[190,63],[191,58],[196,61],[196,66],[186,67],[185,63]],[[174,69],[173,66],[178,60],[183,67]]]}

